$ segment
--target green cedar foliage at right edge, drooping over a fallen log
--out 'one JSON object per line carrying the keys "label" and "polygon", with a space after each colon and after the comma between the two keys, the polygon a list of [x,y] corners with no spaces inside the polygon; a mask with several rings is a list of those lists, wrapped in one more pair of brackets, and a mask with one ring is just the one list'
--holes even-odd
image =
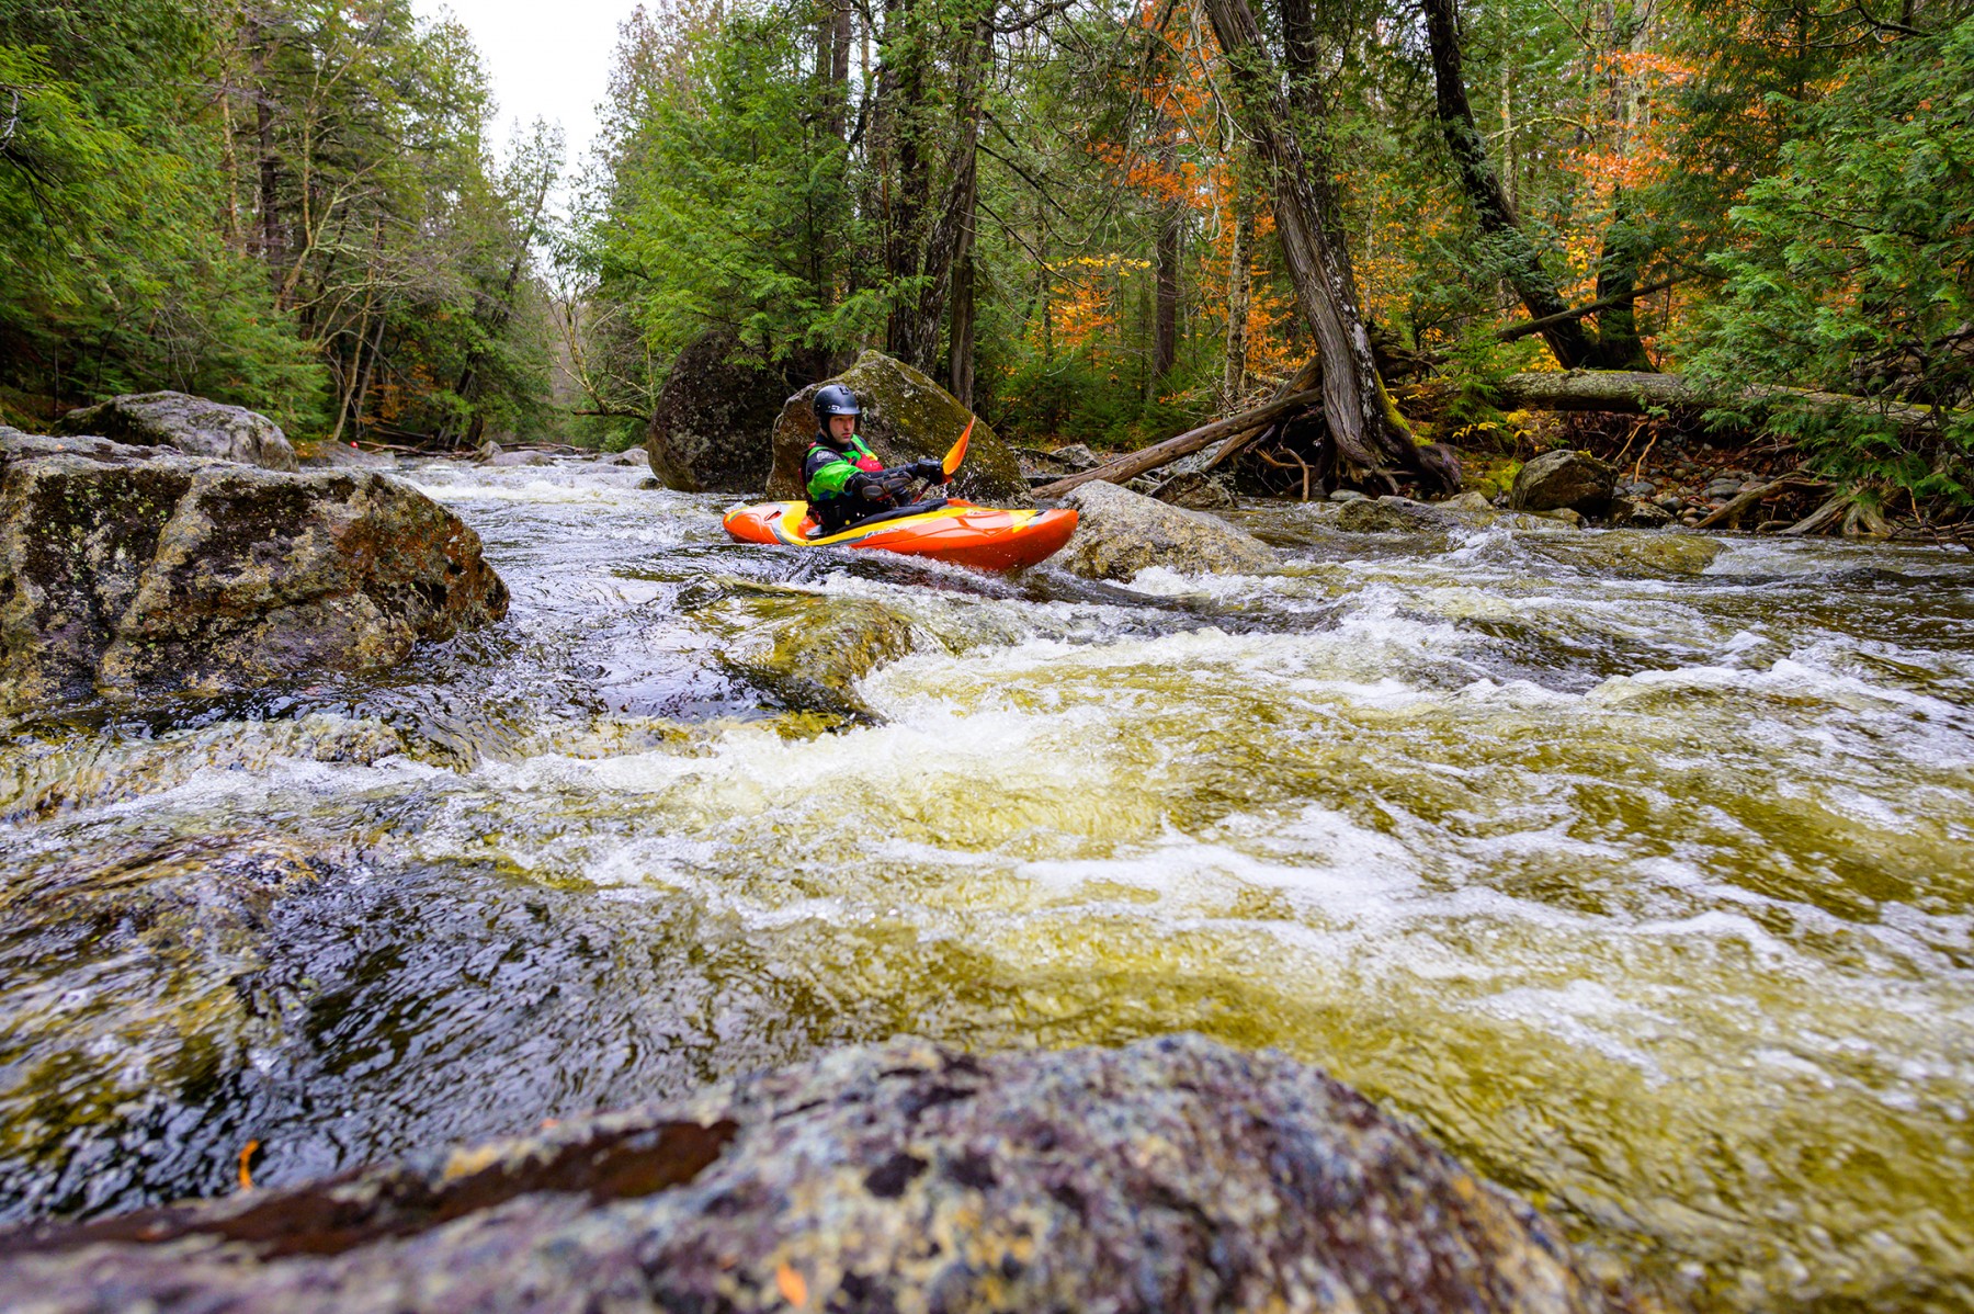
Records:
{"label": "green cedar foliage at right edge, drooping over a fallen log", "polygon": [[1694,371],[1960,408],[1919,444],[1867,410],[1802,404],[1769,424],[1840,477],[1974,499],[1974,20],[1775,110],[1800,132],[1733,209]]}

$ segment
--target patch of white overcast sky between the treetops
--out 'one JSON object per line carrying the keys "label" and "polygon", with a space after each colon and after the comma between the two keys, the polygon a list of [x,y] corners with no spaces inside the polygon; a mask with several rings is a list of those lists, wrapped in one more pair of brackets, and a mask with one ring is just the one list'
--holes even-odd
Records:
{"label": "patch of white overcast sky between the treetops", "polygon": [[499,101],[494,140],[505,154],[515,120],[537,116],[563,124],[569,164],[576,166],[596,136],[596,103],[604,99],[616,26],[638,0],[417,0],[418,14],[452,14],[474,34],[474,45],[494,79]]}

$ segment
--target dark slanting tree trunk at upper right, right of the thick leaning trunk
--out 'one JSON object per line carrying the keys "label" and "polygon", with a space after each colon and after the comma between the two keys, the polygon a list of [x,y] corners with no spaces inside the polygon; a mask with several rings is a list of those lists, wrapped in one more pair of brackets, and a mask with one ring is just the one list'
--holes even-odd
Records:
{"label": "dark slanting tree trunk at upper right, right of the thick leaning trunk", "polygon": [[[1433,57],[1433,101],[1439,110],[1439,128],[1447,136],[1447,150],[1453,154],[1461,191],[1467,193],[1475,221],[1506,262],[1508,284],[1528,306],[1530,320],[1550,320],[1569,310],[1569,302],[1556,290],[1550,272],[1542,268],[1536,245],[1528,241],[1514,217],[1514,205],[1500,187],[1500,178],[1488,166],[1486,144],[1480,140],[1473,107],[1467,103],[1459,16],[1453,6],[1455,0],[1425,0],[1425,37]],[[1587,365],[1595,351],[1581,320],[1556,320],[1542,329],[1542,341],[1550,343],[1550,353],[1563,369]]]}

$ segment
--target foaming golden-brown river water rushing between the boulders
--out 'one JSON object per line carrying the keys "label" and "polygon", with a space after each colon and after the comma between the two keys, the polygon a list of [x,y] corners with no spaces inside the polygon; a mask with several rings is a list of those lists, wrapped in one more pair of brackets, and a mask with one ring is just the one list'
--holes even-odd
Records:
{"label": "foaming golden-brown river water rushing between the boulders", "polygon": [[[827,1046],[1317,1061],[1706,1310],[1974,1310],[1974,556],[1346,535],[999,580],[570,462],[505,623],[0,726],[0,1219]],[[855,606],[851,606],[855,604]],[[764,627],[902,621],[847,693]]]}

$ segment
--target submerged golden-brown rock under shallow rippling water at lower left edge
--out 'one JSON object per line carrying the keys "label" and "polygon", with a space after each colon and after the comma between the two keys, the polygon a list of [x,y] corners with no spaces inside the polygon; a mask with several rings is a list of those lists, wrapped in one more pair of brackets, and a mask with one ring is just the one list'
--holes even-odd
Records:
{"label": "submerged golden-brown rock under shallow rippling water at lower left edge", "polygon": [[237,1079],[278,1036],[259,977],[266,917],[324,870],[284,839],[205,835],[8,874],[0,1209],[89,1207],[136,1164],[184,1154],[154,1129],[178,1093]]}

